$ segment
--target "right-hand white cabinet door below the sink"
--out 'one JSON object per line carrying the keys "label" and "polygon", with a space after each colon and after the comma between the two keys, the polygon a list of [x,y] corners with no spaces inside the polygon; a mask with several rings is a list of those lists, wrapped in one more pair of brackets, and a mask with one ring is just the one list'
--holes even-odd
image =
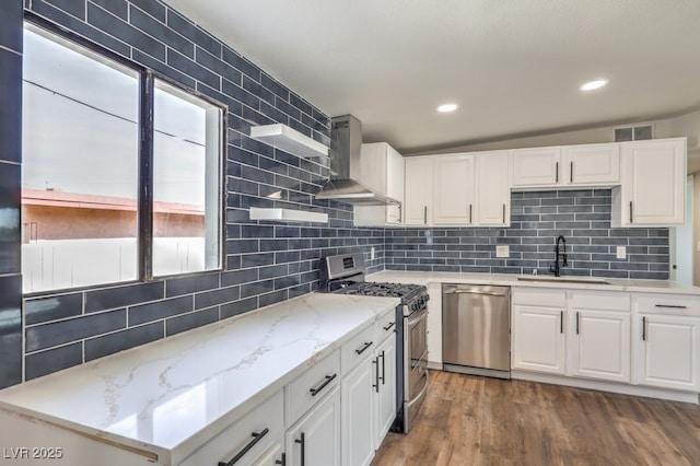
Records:
{"label": "right-hand white cabinet door below the sink", "polygon": [[573,374],[629,383],[629,312],[573,311]]}

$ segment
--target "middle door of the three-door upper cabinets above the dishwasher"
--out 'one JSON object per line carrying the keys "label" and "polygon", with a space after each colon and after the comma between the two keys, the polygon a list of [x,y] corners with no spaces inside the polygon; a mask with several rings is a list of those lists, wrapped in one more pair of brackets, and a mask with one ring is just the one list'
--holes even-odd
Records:
{"label": "middle door of the three-door upper cabinets above the dishwasher", "polygon": [[433,224],[474,223],[474,155],[448,155],[433,161]]}

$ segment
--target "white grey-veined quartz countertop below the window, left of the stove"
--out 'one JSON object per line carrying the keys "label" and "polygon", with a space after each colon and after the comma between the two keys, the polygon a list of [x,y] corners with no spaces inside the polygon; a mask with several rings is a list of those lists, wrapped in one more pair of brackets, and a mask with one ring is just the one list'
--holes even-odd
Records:
{"label": "white grey-veined quartz countertop below the window, left of the stove", "polygon": [[177,464],[398,302],[306,294],[5,388],[0,407]]}

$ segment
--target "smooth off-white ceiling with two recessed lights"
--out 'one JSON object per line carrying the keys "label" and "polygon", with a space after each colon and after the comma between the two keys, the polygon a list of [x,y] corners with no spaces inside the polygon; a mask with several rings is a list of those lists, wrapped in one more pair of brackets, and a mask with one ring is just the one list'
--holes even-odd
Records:
{"label": "smooth off-white ceiling with two recessed lights", "polygon": [[404,153],[700,108],[697,0],[165,1]]}

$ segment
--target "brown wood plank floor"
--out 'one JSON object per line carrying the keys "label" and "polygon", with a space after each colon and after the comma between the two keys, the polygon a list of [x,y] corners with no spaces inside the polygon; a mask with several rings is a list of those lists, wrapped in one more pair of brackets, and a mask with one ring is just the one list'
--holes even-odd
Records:
{"label": "brown wood plank floor", "polygon": [[441,371],[372,466],[700,465],[700,406]]}

